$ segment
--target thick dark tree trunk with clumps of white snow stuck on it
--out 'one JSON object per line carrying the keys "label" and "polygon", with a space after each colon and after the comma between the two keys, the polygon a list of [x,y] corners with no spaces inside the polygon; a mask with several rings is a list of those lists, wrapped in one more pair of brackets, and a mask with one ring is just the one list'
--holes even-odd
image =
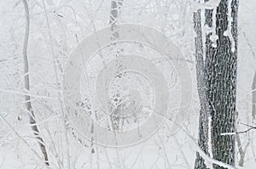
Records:
{"label": "thick dark tree trunk with clumps of white snow stuck on it", "polygon": [[[208,149],[213,159],[231,166],[235,166],[235,136],[221,135],[221,133],[235,132],[237,11],[238,0],[220,0],[217,8],[206,9],[204,26],[211,31],[202,35],[206,36],[206,51],[203,51],[205,59],[203,68],[201,68],[203,73],[200,76],[205,82],[198,84],[200,98],[202,97],[200,84],[203,85],[202,88],[206,89],[206,98],[201,99],[206,101],[203,106],[207,105],[206,107],[201,105],[199,133],[201,149],[206,152]],[[214,20],[215,18],[216,20]],[[198,32],[196,33],[198,37]],[[196,44],[196,48],[201,47]],[[197,69],[199,69],[198,66]],[[206,116],[208,115],[211,119],[210,134],[206,133],[206,123],[208,123]],[[201,128],[205,130],[202,131]],[[210,144],[206,144],[208,140],[211,141]],[[195,168],[206,168],[201,161],[203,160],[197,155]],[[213,165],[213,168],[224,167]]]}

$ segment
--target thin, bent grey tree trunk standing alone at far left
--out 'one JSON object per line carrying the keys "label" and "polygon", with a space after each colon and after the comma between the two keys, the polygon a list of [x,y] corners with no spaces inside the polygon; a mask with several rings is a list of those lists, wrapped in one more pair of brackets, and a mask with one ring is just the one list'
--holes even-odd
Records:
{"label": "thin, bent grey tree trunk standing alone at far left", "polygon": [[[24,8],[25,8],[25,13],[26,13],[26,32],[25,32],[25,39],[23,43],[23,61],[24,61],[24,83],[25,83],[25,88],[26,91],[29,91],[30,89],[30,83],[29,83],[29,66],[28,66],[28,59],[27,59],[27,44],[28,44],[28,37],[29,37],[29,28],[30,28],[30,20],[29,20],[29,10],[27,6],[26,0],[23,0]],[[38,144],[40,146],[40,149],[44,155],[44,162],[47,166],[49,166],[49,161],[48,161],[48,155],[46,148],[44,146],[44,140],[40,136],[40,132],[38,130],[38,125],[35,120],[35,115],[34,111],[32,109],[32,103],[31,103],[31,98],[29,95],[25,95],[25,101],[26,101],[26,110],[29,112],[29,122],[32,127],[33,134],[35,137],[38,139]]]}

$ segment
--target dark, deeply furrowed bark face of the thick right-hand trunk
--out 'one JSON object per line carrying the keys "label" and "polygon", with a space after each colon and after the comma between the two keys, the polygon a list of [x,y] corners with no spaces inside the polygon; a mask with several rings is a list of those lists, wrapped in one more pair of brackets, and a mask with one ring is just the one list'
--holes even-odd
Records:
{"label": "dark, deeply furrowed bark face of the thick right-hand trunk", "polygon": [[[221,136],[223,132],[235,132],[236,119],[236,70],[237,70],[237,11],[238,2],[231,3],[231,34],[235,51],[231,51],[228,29],[228,3],[220,1],[216,16],[217,48],[209,48],[206,59],[207,95],[212,116],[212,155],[218,161],[235,166],[236,139],[234,135]],[[213,165],[215,169],[224,168]]]}

